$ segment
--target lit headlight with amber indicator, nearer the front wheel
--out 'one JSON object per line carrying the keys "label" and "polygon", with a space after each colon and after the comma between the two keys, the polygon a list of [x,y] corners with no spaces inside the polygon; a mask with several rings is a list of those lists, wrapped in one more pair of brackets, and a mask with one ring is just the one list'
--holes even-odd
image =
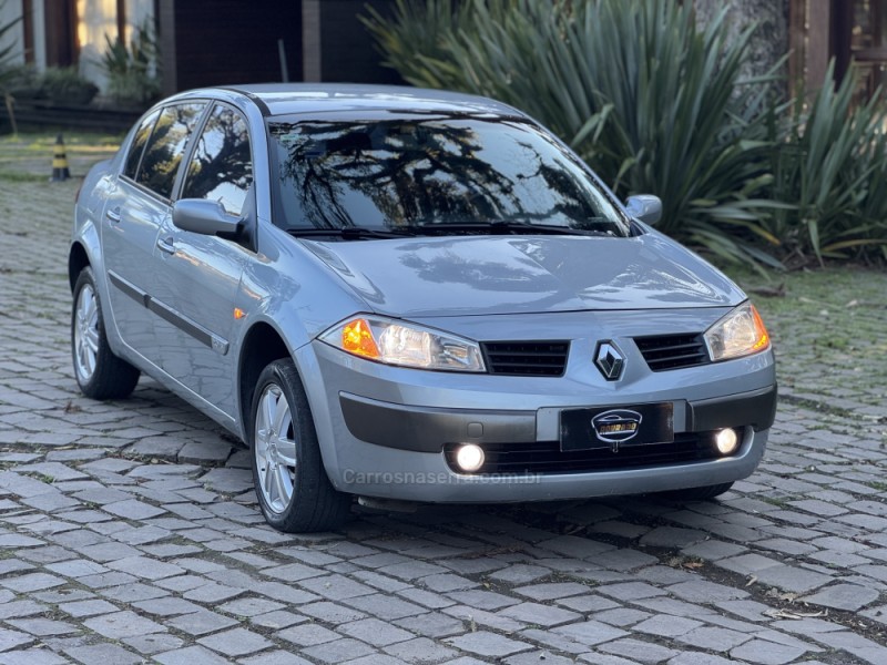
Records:
{"label": "lit headlight with amber indicator, nearer the front wheel", "polygon": [[320,340],[354,356],[417,369],[486,371],[473,341],[416,324],[358,316],[323,335]]}

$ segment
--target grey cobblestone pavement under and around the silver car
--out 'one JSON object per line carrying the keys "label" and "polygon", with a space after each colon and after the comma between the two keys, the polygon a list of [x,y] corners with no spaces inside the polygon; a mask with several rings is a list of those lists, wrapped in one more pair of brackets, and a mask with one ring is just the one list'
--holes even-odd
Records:
{"label": "grey cobblestone pavement under and around the silver car", "polygon": [[720,501],[289,536],[239,444],[156,383],[77,392],[75,188],[0,181],[0,664],[887,664],[887,276],[762,301],[784,397],[764,464]]}

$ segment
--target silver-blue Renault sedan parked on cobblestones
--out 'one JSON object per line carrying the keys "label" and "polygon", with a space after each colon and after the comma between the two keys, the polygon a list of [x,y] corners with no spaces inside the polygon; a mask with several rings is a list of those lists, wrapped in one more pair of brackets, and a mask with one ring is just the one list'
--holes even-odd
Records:
{"label": "silver-blue Renault sedan parked on cobblestones", "polygon": [[488,99],[181,93],[81,187],[74,374],[145,372],[241,437],[287,532],[354,497],[716,497],[762,458],[774,358],[661,211]]}

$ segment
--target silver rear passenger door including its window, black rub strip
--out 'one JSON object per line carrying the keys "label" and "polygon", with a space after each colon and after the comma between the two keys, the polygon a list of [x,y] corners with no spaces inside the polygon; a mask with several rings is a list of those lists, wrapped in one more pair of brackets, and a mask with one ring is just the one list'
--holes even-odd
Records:
{"label": "silver rear passenger door including its window, black rub strip", "polygon": [[121,339],[157,365],[149,306],[154,254],[187,140],[205,102],[172,104],[152,113],[135,133],[123,172],[112,186],[102,219],[111,310]]}

